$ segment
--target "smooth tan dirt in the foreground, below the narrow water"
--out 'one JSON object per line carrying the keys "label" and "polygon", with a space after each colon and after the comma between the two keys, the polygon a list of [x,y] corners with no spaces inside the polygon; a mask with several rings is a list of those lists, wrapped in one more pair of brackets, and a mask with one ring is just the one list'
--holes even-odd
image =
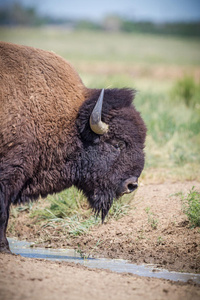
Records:
{"label": "smooth tan dirt in the foreground, below the narrow water", "polygon": [[200,298],[200,287],[0,254],[0,300]]}

